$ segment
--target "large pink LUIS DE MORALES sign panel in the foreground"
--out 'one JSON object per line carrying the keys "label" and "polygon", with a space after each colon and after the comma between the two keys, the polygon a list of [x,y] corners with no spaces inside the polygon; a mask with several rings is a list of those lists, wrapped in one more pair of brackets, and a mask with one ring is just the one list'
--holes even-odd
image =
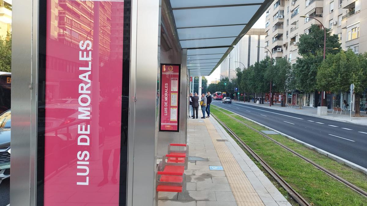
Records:
{"label": "large pink LUIS DE MORALES sign panel in the foreground", "polygon": [[126,204],[123,34],[123,0],[47,0],[45,206]]}

